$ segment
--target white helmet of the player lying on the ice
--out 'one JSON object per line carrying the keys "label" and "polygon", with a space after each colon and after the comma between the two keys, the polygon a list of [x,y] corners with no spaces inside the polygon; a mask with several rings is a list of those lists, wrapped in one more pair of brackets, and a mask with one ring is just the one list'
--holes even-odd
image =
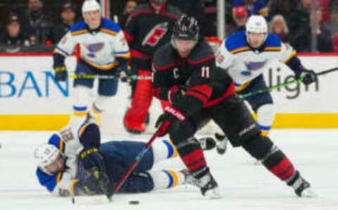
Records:
{"label": "white helmet of the player lying on the ice", "polygon": [[61,151],[53,144],[41,144],[39,147],[35,148],[34,151],[34,158],[37,160],[37,166],[44,171],[44,173],[49,175],[51,175],[51,173],[46,170],[46,166],[54,163],[60,155],[62,155]]}

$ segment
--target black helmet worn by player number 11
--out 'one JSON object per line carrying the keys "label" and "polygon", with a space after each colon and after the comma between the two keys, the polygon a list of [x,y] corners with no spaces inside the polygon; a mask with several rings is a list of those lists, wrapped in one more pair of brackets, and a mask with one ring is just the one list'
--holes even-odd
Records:
{"label": "black helmet worn by player number 11", "polygon": [[192,39],[197,42],[199,39],[199,25],[192,16],[182,15],[173,27],[173,38]]}

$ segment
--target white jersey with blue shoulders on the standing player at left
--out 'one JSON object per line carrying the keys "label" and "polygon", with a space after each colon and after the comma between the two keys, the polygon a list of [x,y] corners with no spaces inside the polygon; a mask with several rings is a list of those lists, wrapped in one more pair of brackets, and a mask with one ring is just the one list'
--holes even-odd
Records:
{"label": "white jersey with blue shoulders on the standing player at left", "polygon": [[54,53],[70,56],[80,44],[80,59],[99,70],[111,70],[119,65],[116,58],[130,58],[128,44],[120,26],[102,18],[98,31],[89,32],[84,21],[75,23],[60,40]]}

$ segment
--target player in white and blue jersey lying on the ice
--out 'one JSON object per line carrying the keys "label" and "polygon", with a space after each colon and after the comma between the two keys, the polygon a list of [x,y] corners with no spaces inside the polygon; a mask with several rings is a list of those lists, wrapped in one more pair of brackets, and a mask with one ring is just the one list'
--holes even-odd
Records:
{"label": "player in white and blue jersey lying on the ice", "polygon": [[[110,141],[101,144],[98,125],[94,119],[83,123],[78,133],[71,130],[63,137],[52,135],[47,143],[35,149],[37,178],[49,192],[59,196],[106,194],[129,169],[146,143]],[[215,147],[212,139],[200,140],[204,149]],[[172,142],[158,140],[144,155],[139,165],[120,188],[119,192],[149,192],[196,180],[187,170],[151,170],[156,163],[177,157]]]}

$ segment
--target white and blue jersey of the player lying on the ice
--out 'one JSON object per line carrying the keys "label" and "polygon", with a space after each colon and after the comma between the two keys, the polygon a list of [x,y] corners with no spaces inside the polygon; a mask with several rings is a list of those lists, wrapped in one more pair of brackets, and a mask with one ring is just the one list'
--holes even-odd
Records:
{"label": "white and blue jersey of the player lying on the ice", "polygon": [[77,180],[82,178],[82,175],[84,174],[84,168],[77,160],[77,154],[80,153],[83,146],[78,137],[63,140],[57,134],[54,134],[49,138],[48,144],[53,144],[65,154],[66,170],[55,175],[48,175],[37,168],[37,178],[39,179],[39,183],[46,187],[49,192],[52,192],[55,195],[68,196],[71,193],[74,193],[75,183],[77,183]]}

